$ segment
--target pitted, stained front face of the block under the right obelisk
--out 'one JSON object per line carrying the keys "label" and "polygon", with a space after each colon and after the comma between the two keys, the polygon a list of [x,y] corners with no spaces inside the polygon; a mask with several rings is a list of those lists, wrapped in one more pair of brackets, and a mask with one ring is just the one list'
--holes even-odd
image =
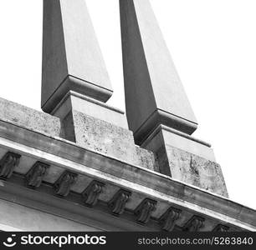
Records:
{"label": "pitted, stained front face of the block under the right obelisk", "polygon": [[218,163],[171,146],[166,146],[166,155],[173,179],[228,197],[223,173]]}

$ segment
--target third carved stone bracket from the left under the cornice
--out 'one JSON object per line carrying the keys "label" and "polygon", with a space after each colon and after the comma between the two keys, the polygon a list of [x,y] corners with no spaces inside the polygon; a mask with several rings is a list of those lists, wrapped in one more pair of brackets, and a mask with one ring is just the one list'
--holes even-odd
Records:
{"label": "third carved stone bracket from the left under the cornice", "polygon": [[70,188],[77,180],[77,176],[76,173],[65,171],[56,183],[54,183],[55,193],[62,197],[68,196]]}

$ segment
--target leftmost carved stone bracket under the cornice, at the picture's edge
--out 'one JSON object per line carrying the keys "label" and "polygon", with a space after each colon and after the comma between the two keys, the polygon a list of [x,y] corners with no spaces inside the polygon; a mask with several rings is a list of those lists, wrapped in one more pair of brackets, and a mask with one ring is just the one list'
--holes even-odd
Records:
{"label": "leftmost carved stone bracket under the cornice, at the picture's edge", "polygon": [[14,168],[18,166],[21,155],[8,152],[0,161],[0,178],[8,179],[12,176]]}

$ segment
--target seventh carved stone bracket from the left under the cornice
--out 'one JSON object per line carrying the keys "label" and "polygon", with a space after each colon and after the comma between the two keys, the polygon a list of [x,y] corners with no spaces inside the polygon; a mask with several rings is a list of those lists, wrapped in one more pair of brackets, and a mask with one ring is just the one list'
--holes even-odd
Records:
{"label": "seventh carved stone bracket from the left under the cornice", "polygon": [[180,218],[182,210],[177,208],[169,208],[166,213],[164,213],[159,223],[162,226],[162,230],[167,232],[172,232],[173,228],[175,227],[175,222],[178,218]]}

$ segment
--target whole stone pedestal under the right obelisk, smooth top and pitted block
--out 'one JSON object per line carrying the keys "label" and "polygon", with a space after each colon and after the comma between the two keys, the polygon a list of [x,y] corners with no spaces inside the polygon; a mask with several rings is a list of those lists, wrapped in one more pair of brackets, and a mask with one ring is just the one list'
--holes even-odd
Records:
{"label": "whole stone pedestal under the right obelisk, smooth top and pitted block", "polygon": [[212,148],[202,143],[160,126],[142,147],[156,154],[160,173],[228,197],[223,173],[215,162]]}

